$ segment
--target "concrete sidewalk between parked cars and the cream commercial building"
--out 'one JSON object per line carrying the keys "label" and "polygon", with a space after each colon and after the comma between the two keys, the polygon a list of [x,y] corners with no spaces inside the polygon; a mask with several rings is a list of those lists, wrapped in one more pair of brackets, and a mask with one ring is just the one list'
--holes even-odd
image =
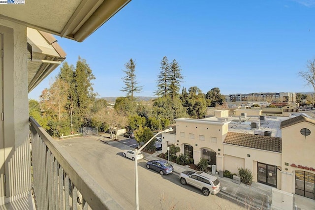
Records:
{"label": "concrete sidewalk between parked cars and the cream commercial building", "polygon": [[[119,141],[113,141],[109,139],[107,136],[104,136],[105,138],[101,138],[99,140],[105,141],[107,144],[112,145],[114,147],[120,148],[121,150],[132,150],[133,148],[126,146]],[[156,160],[156,159],[162,159],[159,158],[157,155],[161,153],[161,151],[158,151],[154,154],[149,154],[146,152],[143,152],[144,159],[149,160]],[[182,166],[176,163],[171,163],[174,168],[174,172],[176,174],[180,174],[181,172],[185,170],[194,171],[193,169],[190,169],[189,167]],[[272,199],[272,188],[271,186],[268,186],[266,184],[261,184],[258,182],[253,182],[251,186],[245,185],[243,183],[237,184],[232,182],[229,178],[221,178],[219,175],[216,176],[220,182],[221,182],[221,191],[220,193],[229,197],[230,199],[239,201],[243,203],[246,207],[246,209],[257,209],[257,210],[271,210],[271,199]],[[294,199],[294,210],[315,210],[315,200],[295,195],[293,194]]]}

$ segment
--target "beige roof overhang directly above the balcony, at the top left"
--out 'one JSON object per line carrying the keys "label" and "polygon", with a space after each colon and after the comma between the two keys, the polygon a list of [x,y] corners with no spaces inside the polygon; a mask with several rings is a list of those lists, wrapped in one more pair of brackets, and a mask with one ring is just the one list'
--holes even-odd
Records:
{"label": "beige roof overhang directly above the balcony, at the top left", "polygon": [[82,42],[131,0],[31,0],[1,4],[0,19]]}

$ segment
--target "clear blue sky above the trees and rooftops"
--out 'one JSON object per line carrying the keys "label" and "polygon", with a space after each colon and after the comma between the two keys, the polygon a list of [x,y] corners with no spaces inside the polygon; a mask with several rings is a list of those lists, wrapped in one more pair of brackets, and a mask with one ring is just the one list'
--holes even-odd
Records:
{"label": "clear blue sky above the trees and rooftops", "polygon": [[[136,96],[155,96],[164,56],[181,66],[182,88],[314,91],[298,72],[315,59],[315,0],[132,0],[82,43],[56,38],[69,64],[87,60],[98,97],[125,96],[131,58],[143,86]],[[59,69],[29,98],[38,99]]]}

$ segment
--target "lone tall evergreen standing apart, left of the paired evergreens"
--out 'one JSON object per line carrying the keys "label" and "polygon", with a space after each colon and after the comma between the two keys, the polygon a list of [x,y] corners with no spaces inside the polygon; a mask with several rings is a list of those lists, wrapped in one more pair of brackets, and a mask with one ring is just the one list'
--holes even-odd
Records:
{"label": "lone tall evergreen standing apart, left of the paired evergreens", "polygon": [[136,63],[133,62],[132,59],[130,59],[129,62],[125,64],[125,67],[126,67],[126,71],[124,72],[126,73],[126,76],[122,78],[124,80],[125,87],[121,91],[126,92],[126,96],[130,98],[131,103],[133,104],[134,93],[141,92],[143,87],[137,86],[138,82],[136,81],[136,75],[135,75]]}

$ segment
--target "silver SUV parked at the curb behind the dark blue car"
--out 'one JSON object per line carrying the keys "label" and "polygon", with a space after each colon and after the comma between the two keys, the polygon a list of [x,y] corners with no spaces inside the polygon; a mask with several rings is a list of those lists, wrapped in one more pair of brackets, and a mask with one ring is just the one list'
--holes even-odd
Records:
{"label": "silver SUV parked at the curb behind the dark blue car", "polygon": [[215,176],[202,171],[183,171],[179,175],[182,184],[190,184],[202,190],[205,196],[220,192],[220,181]]}

